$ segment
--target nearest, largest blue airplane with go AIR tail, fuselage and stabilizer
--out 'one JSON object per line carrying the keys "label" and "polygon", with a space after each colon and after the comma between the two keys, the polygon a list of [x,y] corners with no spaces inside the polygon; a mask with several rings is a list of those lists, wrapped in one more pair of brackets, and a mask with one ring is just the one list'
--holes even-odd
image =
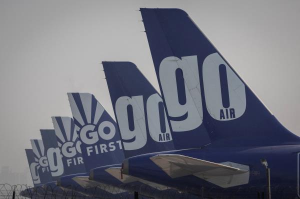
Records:
{"label": "nearest, largest blue airplane with go AIR tail, fuselage and stabilizer", "polygon": [[[175,148],[127,158],[123,174],[204,197],[299,195],[300,139],[284,128],[186,12],[141,8]],[[150,171],[150,172],[149,172]]]}

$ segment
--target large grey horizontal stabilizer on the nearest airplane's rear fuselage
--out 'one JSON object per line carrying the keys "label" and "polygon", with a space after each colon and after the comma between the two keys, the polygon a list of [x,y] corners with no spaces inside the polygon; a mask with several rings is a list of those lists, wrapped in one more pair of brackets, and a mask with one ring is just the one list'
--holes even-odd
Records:
{"label": "large grey horizontal stabilizer on the nearest airplane's rear fuselage", "polygon": [[230,161],[215,163],[178,154],[158,154],[150,159],[172,178],[195,175],[221,187],[249,180],[249,166]]}

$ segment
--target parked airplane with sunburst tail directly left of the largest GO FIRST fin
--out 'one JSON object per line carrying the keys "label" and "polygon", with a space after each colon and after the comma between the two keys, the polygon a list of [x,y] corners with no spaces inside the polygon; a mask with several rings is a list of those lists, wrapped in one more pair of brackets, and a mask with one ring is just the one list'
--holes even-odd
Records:
{"label": "parked airplane with sunburst tail directly left of the largest GO FIRST fin", "polygon": [[[99,118],[98,118],[99,119]],[[75,129],[75,123],[71,117],[52,117],[56,140],[58,147],[62,154],[63,176],[57,180],[57,185],[63,188],[74,190],[86,196],[102,196],[110,198],[118,198],[119,191],[110,191],[107,187],[99,185],[88,184],[82,187],[72,178],[75,176],[88,176],[85,171],[85,164],[89,165],[90,162],[84,162],[81,155],[81,141]],[[90,130],[88,130],[89,132]],[[83,145],[82,145],[83,146]],[[95,161],[97,159],[94,159]],[[98,159],[98,161],[101,159]],[[89,165],[90,166],[90,165]],[[126,196],[127,193],[124,195]]]}

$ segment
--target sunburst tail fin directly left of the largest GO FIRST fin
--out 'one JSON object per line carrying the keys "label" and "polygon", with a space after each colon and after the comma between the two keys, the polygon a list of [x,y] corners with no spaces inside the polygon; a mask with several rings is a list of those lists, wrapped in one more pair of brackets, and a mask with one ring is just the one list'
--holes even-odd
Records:
{"label": "sunburst tail fin directly left of the largest GO FIRST fin", "polygon": [[64,174],[85,172],[80,141],[71,117],[52,117],[56,140],[62,154]]}

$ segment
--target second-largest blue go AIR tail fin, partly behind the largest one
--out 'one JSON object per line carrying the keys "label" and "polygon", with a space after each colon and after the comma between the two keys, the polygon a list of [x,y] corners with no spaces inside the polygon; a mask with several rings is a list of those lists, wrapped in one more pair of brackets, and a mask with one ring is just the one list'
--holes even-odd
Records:
{"label": "second-largest blue go AIR tail fin, partly behind the largest one", "polygon": [[172,150],[160,95],[131,62],[102,62],[126,157]]}

